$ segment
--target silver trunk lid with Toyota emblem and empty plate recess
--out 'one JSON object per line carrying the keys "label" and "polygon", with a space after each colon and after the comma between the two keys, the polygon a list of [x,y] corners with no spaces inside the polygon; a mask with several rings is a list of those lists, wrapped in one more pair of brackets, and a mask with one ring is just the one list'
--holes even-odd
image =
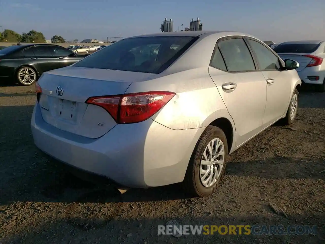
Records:
{"label": "silver trunk lid with Toyota emblem and empty plate recess", "polygon": [[46,123],[74,134],[98,138],[116,122],[103,108],[86,104],[89,97],[123,94],[133,81],[152,74],[105,69],[65,67],[46,72],[39,80],[39,99]]}

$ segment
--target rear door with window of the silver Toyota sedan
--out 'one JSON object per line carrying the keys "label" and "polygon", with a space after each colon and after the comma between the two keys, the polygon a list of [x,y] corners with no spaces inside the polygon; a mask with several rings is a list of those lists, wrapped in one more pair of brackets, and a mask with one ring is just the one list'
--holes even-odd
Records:
{"label": "rear door with window of the silver Toyota sedan", "polygon": [[218,40],[209,74],[235,123],[236,146],[262,130],[266,81],[243,37]]}

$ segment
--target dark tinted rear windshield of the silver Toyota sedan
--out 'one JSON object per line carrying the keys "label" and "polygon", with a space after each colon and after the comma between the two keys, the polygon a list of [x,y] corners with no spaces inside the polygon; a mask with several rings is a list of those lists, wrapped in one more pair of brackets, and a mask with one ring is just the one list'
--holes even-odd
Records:
{"label": "dark tinted rear windshield of the silver Toyota sedan", "polygon": [[123,39],[89,55],[73,66],[159,74],[195,40],[196,38],[190,36]]}

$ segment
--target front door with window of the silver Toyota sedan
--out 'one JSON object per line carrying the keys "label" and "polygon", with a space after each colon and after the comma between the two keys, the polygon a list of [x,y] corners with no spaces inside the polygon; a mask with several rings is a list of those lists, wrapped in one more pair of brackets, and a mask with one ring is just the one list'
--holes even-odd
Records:
{"label": "front door with window of the silver Toyota sedan", "polygon": [[254,38],[247,38],[247,41],[257,60],[258,68],[266,79],[267,100],[263,125],[268,126],[288,109],[291,75],[287,70],[281,70],[278,56],[266,45]]}

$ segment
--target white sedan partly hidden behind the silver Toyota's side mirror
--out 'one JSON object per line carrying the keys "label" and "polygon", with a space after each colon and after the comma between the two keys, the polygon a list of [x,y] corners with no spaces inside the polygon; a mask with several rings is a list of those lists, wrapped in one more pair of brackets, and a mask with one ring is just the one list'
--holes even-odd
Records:
{"label": "white sedan partly hidden behind the silver Toyota's side mirror", "polygon": [[284,61],[299,62],[296,69],[303,83],[316,84],[320,92],[325,92],[325,42],[292,41],[284,42],[273,49]]}

